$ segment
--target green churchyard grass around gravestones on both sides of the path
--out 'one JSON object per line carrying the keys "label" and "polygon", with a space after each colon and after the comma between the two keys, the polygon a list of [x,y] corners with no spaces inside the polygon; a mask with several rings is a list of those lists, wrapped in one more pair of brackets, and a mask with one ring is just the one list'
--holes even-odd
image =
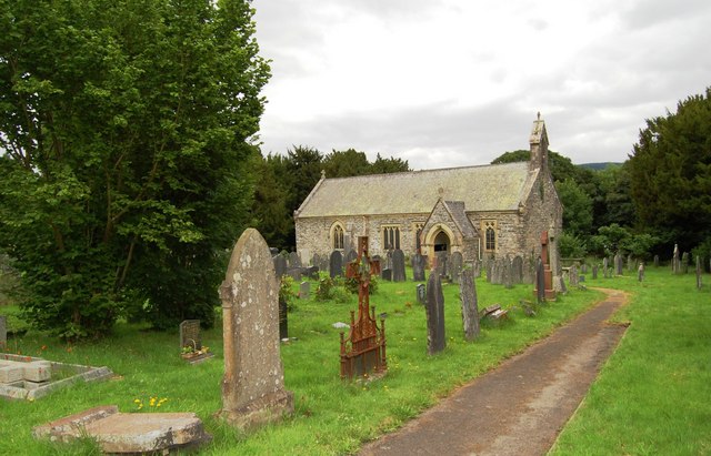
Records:
{"label": "green churchyard grass around gravestones on both sides of the path", "polygon": [[[588,277],[587,283],[630,290],[633,303],[618,318],[631,321],[632,325],[555,450],[559,454],[669,453],[670,448],[671,453],[680,454],[711,452],[711,416],[707,411],[711,397],[711,325],[703,313],[708,312],[711,298],[708,285],[698,292],[693,275],[672,277],[661,268],[649,271],[643,285],[631,277],[594,282]],[[312,295],[314,286],[316,283]],[[511,307],[521,298],[532,298],[530,285],[505,290],[478,280],[477,287],[480,308],[494,303]],[[151,413],[154,407],[146,405],[139,412],[134,403],[141,399],[148,404],[150,397],[167,398],[160,412],[194,412],[202,418],[213,440],[200,454],[353,453],[363,442],[398,428],[457,386],[549,334],[602,296],[592,290],[575,290],[544,306],[534,317],[513,310],[509,322],[484,326],[478,341],[467,343],[458,286],[444,285],[443,290],[448,346],[443,353],[428,356],[424,308],[415,302],[415,284],[380,283],[371,304],[378,313],[388,313],[389,372],[367,384],[341,382],[339,330],[331,326],[349,321],[350,310],[357,307],[356,297],[346,303],[298,301],[289,315],[289,335],[297,341],[282,345],[281,349],[286,385],[294,393],[296,413],[281,424],[249,435],[213,417],[221,407],[221,326],[203,333],[203,344],[211,347],[216,357],[193,366],[180,358],[177,330],[154,333],[142,326],[120,324],[104,340],[78,345],[63,345],[30,331],[19,340],[11,338],[9,351],[67,363],[106,365],[117,377],[79,384],[34,402],[0,401],[0,454],[96,453],[88,443],[56,446],[34,440],[31,428],[104,404],[116,404],[126,413]],[[633,408],[630,402],[639,406]],[[617,434],[612,434],[614,428]],[[678,433],[683,442],[677,439]],[[604,446],[601,439],[609,445]]]}

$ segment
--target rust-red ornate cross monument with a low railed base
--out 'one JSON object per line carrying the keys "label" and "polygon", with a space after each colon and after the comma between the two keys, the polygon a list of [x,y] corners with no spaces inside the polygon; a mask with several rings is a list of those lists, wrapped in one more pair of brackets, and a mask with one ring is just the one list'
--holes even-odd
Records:
{"label": "rust-red ornate cross monument with a low railed base", "polygon": [[346,276],[358,280],[358,321],[351,311],[350,333],[341,333],[341,378],[382,374],[385,362],[385,321],[375,321],[370,306],[370,276],[380,273],[380,262],[368,255],[368,236],[358,237],[358,259],[348,263]]}

